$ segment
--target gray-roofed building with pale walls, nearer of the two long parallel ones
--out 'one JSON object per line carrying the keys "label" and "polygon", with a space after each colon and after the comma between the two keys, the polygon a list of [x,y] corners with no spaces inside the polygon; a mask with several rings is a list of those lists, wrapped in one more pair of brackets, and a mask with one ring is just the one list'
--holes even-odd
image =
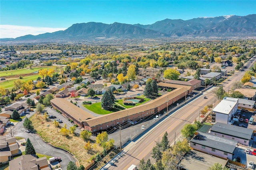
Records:
{"label": "gray-roofed building with pale walls, nearer of the two long parallel ones", "polygon": [[200,132],[190,140],[193,150],[232,160],[237,145],[236,140]]}

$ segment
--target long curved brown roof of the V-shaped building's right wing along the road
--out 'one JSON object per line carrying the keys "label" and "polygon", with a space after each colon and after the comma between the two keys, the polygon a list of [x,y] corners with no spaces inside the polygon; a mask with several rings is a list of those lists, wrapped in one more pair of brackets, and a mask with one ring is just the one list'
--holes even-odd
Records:
{"label": "long curved brown roof of the V-shaped building's right wing along the road", "polygon": [[[147,111],[150,109],[153,109],[155,107],[158,107],[159,105],[162,105],[167,102],[167,99],[171,100],[174,97],[181,95],[182,93],[185,93],[186,88],[178,88],[175,89],[169,93],[166,93],[165,95],[162,95],[161,97],[158,97],[157,99],[154,99],[152,101],[149,101],[148,103],[145,103],[143,105],[139,105],[137,107],[132,107],[129,109],[124,109],[122,111],[110,113],[108,115],[102,115],[100,117],[95,117],[92,119],[88,119],[85,122],[88,123],[90,127],[100,125],[106,122],[114,121],[116,119],[120,119],[126,116],[134,115],[136,113],[140,113],[142,111]],[[188,89],[187,89],[188,91]]]}

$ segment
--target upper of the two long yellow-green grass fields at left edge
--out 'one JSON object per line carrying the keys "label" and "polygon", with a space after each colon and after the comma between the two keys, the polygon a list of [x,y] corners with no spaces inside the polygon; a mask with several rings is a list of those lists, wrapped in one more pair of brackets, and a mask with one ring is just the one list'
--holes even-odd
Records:
{"label": "upper of the two long yellow-green grass fields at left edge", "polygon": [[1,71],[0,72],[0,77],[5,77],[5,76],[9,76],[9,75],[19,75],[19,74],[28,74],[28,73],[34,73],[40,69],[50,69],[53,68],[50,66],[46,66],[46,67],[32,67],[31,69],[17,69],[17,70],[8,70],[8,71]]}

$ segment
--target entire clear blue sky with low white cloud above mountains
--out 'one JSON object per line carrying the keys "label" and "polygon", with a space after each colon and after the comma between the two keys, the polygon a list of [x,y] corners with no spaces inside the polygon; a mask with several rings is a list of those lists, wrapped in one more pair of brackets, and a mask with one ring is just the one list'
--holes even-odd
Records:
{"label": "entire clear blue sky with low white cloud above mountains", "polygon": [[1,0],[0,38],[64,30],[83,22],[153,24],[169,19],[256,14],[256,0]]}

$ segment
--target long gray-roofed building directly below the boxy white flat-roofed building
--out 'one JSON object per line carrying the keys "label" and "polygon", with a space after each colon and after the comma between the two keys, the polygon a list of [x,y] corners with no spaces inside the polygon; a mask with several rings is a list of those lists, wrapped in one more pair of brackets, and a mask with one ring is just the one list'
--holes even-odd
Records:
{"label": "long gray-roofed building directly below the boxy white flat-roofed building", "polygon": [[215,136],[237,140],[238,143],[249,146],[253,129],[217,122],[212,126],[210,133]]}

